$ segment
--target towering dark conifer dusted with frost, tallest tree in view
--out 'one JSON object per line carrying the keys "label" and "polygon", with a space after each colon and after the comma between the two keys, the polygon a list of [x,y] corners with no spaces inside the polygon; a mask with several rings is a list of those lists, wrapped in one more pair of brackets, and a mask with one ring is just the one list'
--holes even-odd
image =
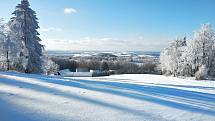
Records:
{"label": "towering dark conifer dusted with frost, tallest tree in view", "polygon": [[19,61],[21,65],[26,65],[26,73],[42,73],[44,47],[40,44],[41,39],[37,31],[39,26],[36,12],[30,8],[28,0],[22,0],[16,6],[13,15],[8,24],[9,38],[18,42],[17,49],[21,51],[18,54]]}

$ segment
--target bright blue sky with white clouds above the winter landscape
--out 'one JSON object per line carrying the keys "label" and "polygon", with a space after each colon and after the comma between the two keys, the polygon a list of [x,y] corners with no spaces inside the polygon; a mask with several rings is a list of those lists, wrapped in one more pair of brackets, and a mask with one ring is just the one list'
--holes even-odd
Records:
{"label": "bright blue sky with white clouds above the winter landscape", "polygon": [[[160,51],[200,24],[215,26],[215,0],[29,0],[48,50]],[[20,0],[1,0],[6,21]]]}

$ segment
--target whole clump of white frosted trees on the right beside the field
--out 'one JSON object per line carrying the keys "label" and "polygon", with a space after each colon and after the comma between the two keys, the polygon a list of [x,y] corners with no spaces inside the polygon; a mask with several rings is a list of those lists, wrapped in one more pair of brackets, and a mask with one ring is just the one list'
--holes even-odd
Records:
{"label": "whole clump of white frosted trees on the right beside the field", "polygon": [[160,55],[164,74],[205,79],[215,76],[215,32],[203,24],[190,39],[177,38]]}

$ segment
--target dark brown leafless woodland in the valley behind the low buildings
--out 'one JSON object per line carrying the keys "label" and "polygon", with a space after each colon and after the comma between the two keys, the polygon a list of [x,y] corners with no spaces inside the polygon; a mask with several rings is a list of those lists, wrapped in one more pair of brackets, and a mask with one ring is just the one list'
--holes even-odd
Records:
{"label": "dark brown leafless woodland in the valley behind the low buildings", "polygon": [[115,74],[160,74],[158,64],[146,62],[136,64],[128,61],[113,60],[73,60],[69,58],[53,57],[52,60],[59,65],[59,69],[70,69],[75,71],[77,67],[88,68],[89,70],[108,71],[114,70]]}

